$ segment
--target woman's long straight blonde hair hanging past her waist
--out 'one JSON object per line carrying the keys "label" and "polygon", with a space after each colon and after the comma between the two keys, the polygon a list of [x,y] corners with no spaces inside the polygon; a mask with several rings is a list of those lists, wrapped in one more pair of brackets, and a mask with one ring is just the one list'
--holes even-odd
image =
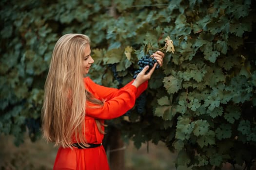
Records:
{"label": "woman's long straight blonde hair hanging past her waist", "polygon": [[[57,41],[44,86],[42,132],[56,146],[72,147],[76,142],[88,146],[83,134],[86,101],[103,102],[85,89],[82,74],[84,49],[90,39],[83,34],[65,34]],[[101,123],[96,120],[98,130]]]}

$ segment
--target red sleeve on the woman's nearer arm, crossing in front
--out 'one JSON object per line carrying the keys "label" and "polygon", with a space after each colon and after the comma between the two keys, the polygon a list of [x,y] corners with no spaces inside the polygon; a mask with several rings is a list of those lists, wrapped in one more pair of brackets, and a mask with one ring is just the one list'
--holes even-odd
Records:
{"label": "red sleeve on the woman's nearer arm, crossing in front", "polygon": [[97,119],[118,118],[134,106],[136,93],[138,92],[134,85],[126,85],[115,92],[116,97],[104,102],[99,108],[98,105],[87,102],[86,115]]}

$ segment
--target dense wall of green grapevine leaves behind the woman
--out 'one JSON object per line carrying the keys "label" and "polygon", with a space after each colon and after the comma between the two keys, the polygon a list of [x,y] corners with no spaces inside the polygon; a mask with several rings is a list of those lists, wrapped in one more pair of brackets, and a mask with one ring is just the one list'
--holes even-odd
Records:
{"label": "dense wall of green grapevine leaves behind the woman", "polygon": [[[255,0],[1,0],[0,18],[0,133],[17,145],[27,128],[40,136],[56,41],[81,33],[100,85],[125,85],[141,57],[165,52],[144,109],[137,102],[109,121],[137,148],[163,141],[178,153],[177,169],[250,168],[256,159]],[[168,36],[174,52],[163,50]]]}

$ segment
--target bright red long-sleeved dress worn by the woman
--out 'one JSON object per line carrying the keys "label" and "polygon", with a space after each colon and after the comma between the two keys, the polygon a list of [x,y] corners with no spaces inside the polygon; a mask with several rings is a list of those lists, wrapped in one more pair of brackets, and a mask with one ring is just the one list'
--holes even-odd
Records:
{"label": "bright red long-sleeved dress worn by the woman", "polygon": [[[134,81],[134,80],[133,80]],[[84,84],[96,98],[105,100],[100,108],[86,107],[85,137],[88,143],[102,143],[104,137],[99,133],[95,119],[114,119],[131,109],[136,98],[147,88],[148,81],[136,88],[132,82],[120,89],[97,85],[89,77],[84,78]],[[93,104],[90,104],[93,105]],[[102,126],[104,130],[104,127]],[[96,148],[77,149],[59,147],[54,170],[109,170],[107,155],[101,145]]]}

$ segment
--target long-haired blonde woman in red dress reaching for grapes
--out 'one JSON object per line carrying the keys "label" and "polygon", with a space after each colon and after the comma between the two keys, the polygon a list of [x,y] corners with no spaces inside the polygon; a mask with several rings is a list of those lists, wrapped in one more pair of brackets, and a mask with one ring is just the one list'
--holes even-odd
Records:
{"label": "long-haired blonde woman in red dress reaching for grapes", "polygon": [[[164,54],[154,57],[162,65]],[[145,67],[121,89],[95,84],[85,77],[91,65],[89,37],[66,34],[55,45],[42,109],[43,136],[59,146],[54,170],[109,170],[102,146],[104,120],[118,118],[131,109],[147,88],[156,68]]]}

